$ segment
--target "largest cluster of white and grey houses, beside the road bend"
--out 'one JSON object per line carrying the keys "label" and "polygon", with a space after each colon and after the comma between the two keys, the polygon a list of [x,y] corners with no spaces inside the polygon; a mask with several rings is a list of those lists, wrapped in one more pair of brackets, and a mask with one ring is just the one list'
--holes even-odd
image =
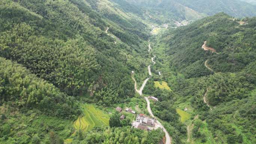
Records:
{"label": "largest cluster of white and grey houses, beside the road bend", "polygon": [[132,127],[151,131],[155,128],[155,119],[151,119],[145,114],[137,114],[136,121],[132,122]]}

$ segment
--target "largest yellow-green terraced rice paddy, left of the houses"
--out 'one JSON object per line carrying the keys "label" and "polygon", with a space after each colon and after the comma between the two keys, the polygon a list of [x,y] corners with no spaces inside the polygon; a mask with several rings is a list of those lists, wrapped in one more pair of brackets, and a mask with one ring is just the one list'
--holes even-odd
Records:
{"label": "largest yellow-green terraced rice paddy, left of the houses", "polygon": [[108,126],[109,116],[104,114],[101,110],[95,109],[93,105],[83,105],[83,116],[79,116],[76,121],[74,121],[74,128],[78,131],[91,130],[94,126]]}

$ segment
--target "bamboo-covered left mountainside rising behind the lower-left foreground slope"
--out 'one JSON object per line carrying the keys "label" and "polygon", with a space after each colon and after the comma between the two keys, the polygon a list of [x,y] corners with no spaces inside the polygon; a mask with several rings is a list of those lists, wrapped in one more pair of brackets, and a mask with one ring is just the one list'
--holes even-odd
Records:
{"label": "bamboo-covered left mountainside rising behind the lower-left foreground slope", "polygon": [[[104,13],[83,1],[2,1],[1,5],[1,56],[23,64],[68,95],[92,96],[108,85],[121,97],[131,96],[128,68],[138,67],[124,53],[141,50],[148,37],[141,32],[144,24],[136,21],[137,28],[133,27],[135,21],[128,22],[110,8],[109,19],[120,23],[106,20]],[[113,36],[105,33],[108,25]]]}

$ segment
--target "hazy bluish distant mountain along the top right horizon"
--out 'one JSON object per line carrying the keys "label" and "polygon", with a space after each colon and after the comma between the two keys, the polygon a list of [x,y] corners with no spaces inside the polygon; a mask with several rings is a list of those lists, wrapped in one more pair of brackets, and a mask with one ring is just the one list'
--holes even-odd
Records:
{"label": "hazy bluish distant mountain along the top right horizon", "polygon": [[[122,1],[122,0],[121,0]],[[151,21],[159,24],[196,20],[225,12],[234,17],[256,15],[256,6],[241,0],[126,0],[140,7]],[[120,1],[117,3],[121,3]]]}

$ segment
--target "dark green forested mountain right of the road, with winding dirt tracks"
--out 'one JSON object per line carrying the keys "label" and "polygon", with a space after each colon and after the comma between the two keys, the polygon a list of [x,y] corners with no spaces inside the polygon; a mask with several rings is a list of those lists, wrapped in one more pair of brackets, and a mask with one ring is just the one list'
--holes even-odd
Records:
{"label": "dark green forested mountain right of the road, with winding dirt tracks", "polygon": [[[256,17],[240,20],[218,13],[157,37],[155,69],[165,76],[154,80],[170,83],[174,94],[167,97],[150,84],[146,90],[161,103],[191,107],[191,143],[255,143],[255,22]],[[161,117],[163,110],[156,113]]]}

